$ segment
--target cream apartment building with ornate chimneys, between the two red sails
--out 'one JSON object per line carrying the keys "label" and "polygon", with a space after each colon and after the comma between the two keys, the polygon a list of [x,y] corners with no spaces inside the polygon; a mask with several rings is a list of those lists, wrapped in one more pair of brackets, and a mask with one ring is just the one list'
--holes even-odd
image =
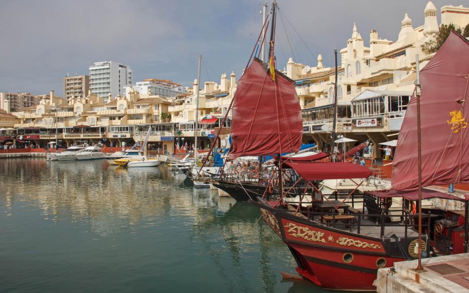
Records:
{"label": "cream apartment building with ornate chimneys, between the two red sails", "polygon": [[[469,8],[462,5],[443,6],[441,15],[442,24],[464,27],[469,23]],[[369,46],[363,44],[358,26],[353,24],[351,37],[339,52],[337,132],[359,142],[369,139],[375,145],[396,138],[387,135],[401,128],[415,86],[416,55],[423,68],[434,53],[426,54],[421,45],[434,40],[439,32],[437,9],[431,1],[422,18],[423,25],[413,27],[405,13],[396,41],[381,39],[371,29]],[[330,144],[336,80],[335,69],[324,67],[320,55],[317,62],[308,66],[290,58],[287,75],[295,80],[303,109],[303,140],[324,149]],[[375,148],[375,156],[379,155]]]}

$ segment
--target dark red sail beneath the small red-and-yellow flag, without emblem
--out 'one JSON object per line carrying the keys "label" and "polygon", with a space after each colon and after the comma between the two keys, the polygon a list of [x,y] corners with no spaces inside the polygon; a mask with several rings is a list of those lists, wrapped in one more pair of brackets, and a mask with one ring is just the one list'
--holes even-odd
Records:
{"label": "dark red sail beneath the small red-and-yellow flag, without emblem", "polygon": [[299,150],[303,125],[292,80],[277,71],[274,83],[255,59],[239,79],[234,99],[229,160]]}

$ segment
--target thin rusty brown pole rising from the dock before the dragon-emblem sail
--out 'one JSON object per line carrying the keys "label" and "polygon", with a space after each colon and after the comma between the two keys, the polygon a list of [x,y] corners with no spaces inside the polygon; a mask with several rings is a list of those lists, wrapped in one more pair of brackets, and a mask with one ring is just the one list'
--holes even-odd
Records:
{"label": "thin rusty brown pole rising from the dock before the dragon-emblem sail", "polygon": [[415,98],[417,99],[417,149],[418,149],[418,168],[419,168],[419,242],[417,244],[419,260],[416,270],[423,271],[422,267],[422,138],[420,131],[420,69],[419,55],[415,55],[415,70],[417,80],[415,81]]}

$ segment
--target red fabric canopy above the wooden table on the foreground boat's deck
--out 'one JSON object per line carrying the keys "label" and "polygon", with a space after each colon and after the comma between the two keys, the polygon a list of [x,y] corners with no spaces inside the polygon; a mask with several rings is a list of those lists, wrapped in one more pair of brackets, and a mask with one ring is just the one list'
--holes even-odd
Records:
{"label": "red fabric canopy above the wooden table on the foreground boat's deck", "polygon": [[305,180],[368,178],[371,170],[351,163],[322,163],[290,161],[283,162],[284,168],[293,168]]}

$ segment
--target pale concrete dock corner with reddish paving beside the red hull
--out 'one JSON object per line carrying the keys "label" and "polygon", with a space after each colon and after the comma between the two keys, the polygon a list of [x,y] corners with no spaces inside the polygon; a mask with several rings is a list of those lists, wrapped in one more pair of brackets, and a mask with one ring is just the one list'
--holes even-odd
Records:
{"label": "pale concrete dock corner with reddish paving beside the red hull", "polygon": [[469,293],[469,253],[402,261],[378,270],[378,293]]}

